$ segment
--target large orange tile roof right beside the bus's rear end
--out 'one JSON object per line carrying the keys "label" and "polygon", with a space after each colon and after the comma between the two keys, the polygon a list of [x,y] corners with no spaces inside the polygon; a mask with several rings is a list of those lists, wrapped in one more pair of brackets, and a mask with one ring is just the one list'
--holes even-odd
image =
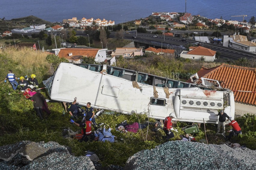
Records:
{"label": "large orange tile roof right beside the bus's rear end", "polygon": [[197,74],[199,77],[222,81],[222,87],[234,92],[235,101],[256,105],[255,68],[221,64],[211,69],[203,67]]}

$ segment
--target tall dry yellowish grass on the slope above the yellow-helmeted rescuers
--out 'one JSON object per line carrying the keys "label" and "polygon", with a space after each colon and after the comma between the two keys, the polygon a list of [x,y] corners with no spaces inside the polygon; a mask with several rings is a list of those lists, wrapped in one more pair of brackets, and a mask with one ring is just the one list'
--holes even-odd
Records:
{"label": "tall dry yellowish grass on the slope above the yellow-helmeted rescuers", "polygon": [[50,69],[46,57],[47,53],[32,48],[5,47],[0,50],[1,77],[6,76],[11,69],[17,77],[35,74],[38,80],[42,80],[43,75]]}

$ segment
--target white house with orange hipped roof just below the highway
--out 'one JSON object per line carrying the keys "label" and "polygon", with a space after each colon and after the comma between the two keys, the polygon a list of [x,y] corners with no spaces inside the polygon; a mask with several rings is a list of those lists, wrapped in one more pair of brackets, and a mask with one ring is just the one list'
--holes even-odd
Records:
{"label": "white house with orange hipped roof just below the highway", "polygon": [[180,56],[183,58],[201,60],[204,58],[205,61],[215,60],[216,51],[213,51],[205,47],[189,47],[189,51],[182,51]]}

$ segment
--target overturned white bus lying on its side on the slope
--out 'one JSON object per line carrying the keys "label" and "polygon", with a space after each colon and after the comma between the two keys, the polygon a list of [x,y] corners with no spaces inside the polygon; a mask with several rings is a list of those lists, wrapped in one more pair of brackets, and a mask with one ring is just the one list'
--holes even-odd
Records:
{"label": "overturned white bus lying on its side on the slope", "polygon": [[[196,85],[113,66],[60,63],[46,81],[51,100],[124,114],[148,114],[165,119],[169,113],[183,122],[217,123],[215,115],[224,109],[234,117],[233,92],[220,85]],[[208,84],[210,82],[206,81]]]}

